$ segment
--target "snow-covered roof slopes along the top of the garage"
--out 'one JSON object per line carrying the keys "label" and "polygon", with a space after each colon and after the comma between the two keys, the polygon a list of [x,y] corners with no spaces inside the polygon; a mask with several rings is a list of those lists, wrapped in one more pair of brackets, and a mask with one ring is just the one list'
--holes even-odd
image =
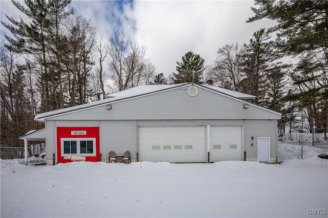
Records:
{"label": "snow-covered roof slopes along the top of the garage", "polygon": [[[118,101],[118,100],[123,100],[131,97],[137,97],[140,95],[146,95],[146,94],[151,94],[153,92],[159,92],[159,91],[165,91],[168,89],[174,89],[174,88],[180,88],[182,86],[189,86],[191,83],[179,83],[179,84],[148,84],[148,85],[139,85],[135,86],[131,89],[120,91],[117,93],[109,94],[106,95],[105,99],[99,100],[99,101],[94,101],[90,102],[87,104],[81,104],[77,106],[72,106],[72,107],[67,107],[55,111],[50,111],[42,114],[38,114],[35,116],[34,120],[39,120],[39,121],[44,121],[45,118],[49,118],[52,116],[60,115],[60,114],[65,114],[65,113],[70,113],[73,111],[79,111],[79,110],[84,110],[85,108],[90,108],[94,106],[100,106],[100,105],[106,105],[110,102]],[[256,96],[244,94],[244,93],[239,93],[239,92],[234,92],[231,90],[226,90],[222,88],[215,87],[213,85],[209,84],[195,84],[196,86],[202,86],[203,88],[208,88],[210,90],[213,90],[215,92],[219,92],[222,94],[226,94],[235,98],[239,99],[254,99]]]}

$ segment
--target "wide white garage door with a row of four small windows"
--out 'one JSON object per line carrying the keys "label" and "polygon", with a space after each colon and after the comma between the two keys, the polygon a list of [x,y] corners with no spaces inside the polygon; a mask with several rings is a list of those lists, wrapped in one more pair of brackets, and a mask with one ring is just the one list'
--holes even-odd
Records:
{"label": "wide white garage door with a row of four small windows", "polygon": [[206,162],[205,126],[139,126],[139,161]]}

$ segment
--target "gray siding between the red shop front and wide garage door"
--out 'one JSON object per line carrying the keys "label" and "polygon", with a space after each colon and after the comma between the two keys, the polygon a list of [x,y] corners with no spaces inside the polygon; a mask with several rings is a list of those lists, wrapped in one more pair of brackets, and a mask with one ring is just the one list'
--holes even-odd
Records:
{"label": "gray siding between the red shop front and wide garage door", "polygon": [[129,150],[131,158],[137,158],[137,124],[136,121],[100,121],[101,158],[108,158],[113,150],[116,155],[123,155]]}

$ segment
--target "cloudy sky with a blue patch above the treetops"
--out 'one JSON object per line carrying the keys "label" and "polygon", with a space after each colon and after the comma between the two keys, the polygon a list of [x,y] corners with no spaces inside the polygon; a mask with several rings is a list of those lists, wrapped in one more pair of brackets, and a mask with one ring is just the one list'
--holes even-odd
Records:
{"label": "cloudy sky with a blue patch above the treetops", "polygon": [[[1,20],[5,13],[19,18],[10,1],[1,2]],[[70,7],[90,18],[98,35],[108,38],[114,29],[122,29],[147,48],[147,56],[156,73],[175,72],[176,61],[188,51],[200,54],[205,64],[216,58],[225,44],[249,41],[262,27],[273,26],[271,20],[246,23],[253,16],[253,1],[77,1]],[[1,26],[1,37],[6,30]]]}

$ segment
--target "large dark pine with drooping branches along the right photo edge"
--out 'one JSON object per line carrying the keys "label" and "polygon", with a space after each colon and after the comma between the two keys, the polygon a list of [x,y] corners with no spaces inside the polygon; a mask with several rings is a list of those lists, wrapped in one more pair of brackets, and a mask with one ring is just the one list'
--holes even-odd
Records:
{"label": "large dark pine with drooping branches along the right photo edge", "polygon": [[281,53],[298,59],[290,74],[295,91],[289,100],[298,102],[298,111],[306,110],[311,132],[314,125],[327,128],[328,2],[257,0],[255,5],[259,8],[252,8],[255,15],[247,22],[276,20],[269,31],[277,32]]}

